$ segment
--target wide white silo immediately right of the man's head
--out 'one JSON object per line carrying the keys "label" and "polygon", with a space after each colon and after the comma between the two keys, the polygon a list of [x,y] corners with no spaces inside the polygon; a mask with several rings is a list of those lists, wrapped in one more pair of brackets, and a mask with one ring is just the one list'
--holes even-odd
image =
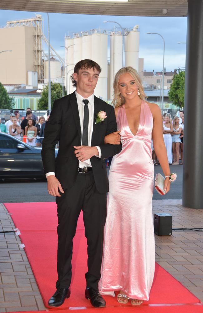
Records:
{"label": "wide white silo immediately right of the man's head", "polygon": [[108,75],[108,62],[107,62],[107,46],[108,35],[106,33],[92,34],[92,57],[91,59],[97,62],[102,68],[99,75],[99,80],[95,88],[94,94],[104,100],[107,99],[107,75]]}

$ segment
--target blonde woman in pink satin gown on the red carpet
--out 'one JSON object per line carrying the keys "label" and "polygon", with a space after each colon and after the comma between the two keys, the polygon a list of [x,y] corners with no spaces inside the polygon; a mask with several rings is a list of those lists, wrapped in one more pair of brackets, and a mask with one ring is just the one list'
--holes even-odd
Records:
{"label": "blonde woman in pink satin gown on the red carpet", "polygon": [[[141,80],[132,67],[114,80],[115,113],[122,151],[109,172],[107,219],[99,290],[119,291],[118,302],[140,305],[149,299],[155,269],[152,220],[154,164],[151,138],[164,175],[170,175],[159,107],[145,101]],[[117,134],[106,136],[115,143]],[[115,140],[115,141],[114,141]],[[166,192],[170,189],[165,180]]]}

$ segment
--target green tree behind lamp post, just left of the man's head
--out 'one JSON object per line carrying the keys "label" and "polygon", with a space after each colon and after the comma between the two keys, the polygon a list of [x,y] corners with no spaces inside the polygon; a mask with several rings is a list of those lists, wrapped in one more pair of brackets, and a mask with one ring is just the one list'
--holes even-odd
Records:
{"label": "green tree behind lamp post, just left of the man's head", "polygon": [[[42,91],[42,97],[40,98],[38,102],[38,109],[39,110],[48,110],[48,85],[43,89]],[[66,95],[66,88],[63,87],[62,91],[62,85],[58,83],[52,83],[51,82],[51,105],[53,106],[53,103],[55,100],[62,98],[62,94]]]}

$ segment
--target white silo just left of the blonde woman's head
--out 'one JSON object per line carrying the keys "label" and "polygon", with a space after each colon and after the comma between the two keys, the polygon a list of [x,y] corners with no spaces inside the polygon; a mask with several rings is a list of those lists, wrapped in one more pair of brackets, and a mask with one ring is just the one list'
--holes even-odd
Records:
{"label": "white silo just left of the blonde woman's head", "polygon": [[122,67],[122,34],[110,35],[110,99],[113,99],[113,81],[116,72]]}

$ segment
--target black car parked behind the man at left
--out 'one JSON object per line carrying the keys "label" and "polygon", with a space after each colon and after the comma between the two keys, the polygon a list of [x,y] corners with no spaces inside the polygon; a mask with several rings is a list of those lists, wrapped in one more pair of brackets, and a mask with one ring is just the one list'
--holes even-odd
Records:
{"label": "black car parked behind the man at left", "polygon": [[0,132],[0,178],[22,177],[45,177],[41,149]]}

